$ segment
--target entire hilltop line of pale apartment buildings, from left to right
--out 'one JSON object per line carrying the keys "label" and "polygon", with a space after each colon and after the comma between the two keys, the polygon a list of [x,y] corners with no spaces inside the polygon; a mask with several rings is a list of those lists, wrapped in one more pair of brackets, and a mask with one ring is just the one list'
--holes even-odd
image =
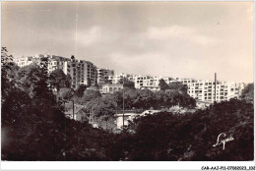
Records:
{"label": "entire hilltop line of pale apartment buildings, from left to right", "polygon": [[160,90],[160,80],[164,80],[168,85],[173,82],[180,82],[187,85],[187,92],[190,96],[198,101],[206,101],[213,103],[215,101],[229,100],[230,98],[239,98],[245,84],[217,82],[215,94],[215,82],[201,81],[193,79],[179,79],[171,77],[155,77],[133,74],[114,74],[113,70],[100,69],[89,61],[77,60],[74,57],[66,58],[56,55],[34,55],[15,59],[19,67],[25,67],[32,63],[40,63],[42,58],[48,58],[48,72],[61,69],[66,75],[72,78],[72,87],[78,88],[79,85],[102,85],[102,93],[112,93],[115,90],[123,88],[118,85],[119,81],[127,78],[134,82],[136,88],[150,89],[152,91]]}

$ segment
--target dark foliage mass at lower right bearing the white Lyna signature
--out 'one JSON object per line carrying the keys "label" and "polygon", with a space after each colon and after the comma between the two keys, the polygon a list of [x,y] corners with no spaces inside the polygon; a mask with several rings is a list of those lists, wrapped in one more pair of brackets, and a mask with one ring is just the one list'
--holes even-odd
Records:
{"label": "dark foliage mass at lower right bearing the white Lyna signature", "polygon": [[[195,113],[161,112],[137,118],[119,135],[113,157],[122,160],[253,160],[253,105],[217,103]],[[234,140],[213,146],[220,134]],[[120,155],[121,152],[121,155]]]}

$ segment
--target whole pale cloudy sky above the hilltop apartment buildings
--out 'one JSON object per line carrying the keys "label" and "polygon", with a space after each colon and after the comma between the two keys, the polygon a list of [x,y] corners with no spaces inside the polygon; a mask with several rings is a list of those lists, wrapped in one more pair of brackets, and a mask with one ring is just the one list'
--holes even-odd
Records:
{"label": "whole pale cloudy sky above the hilltop apartment buildings", "polygon": [[116,73],[253,82],[253,2],[2,2],[2,46]]}

